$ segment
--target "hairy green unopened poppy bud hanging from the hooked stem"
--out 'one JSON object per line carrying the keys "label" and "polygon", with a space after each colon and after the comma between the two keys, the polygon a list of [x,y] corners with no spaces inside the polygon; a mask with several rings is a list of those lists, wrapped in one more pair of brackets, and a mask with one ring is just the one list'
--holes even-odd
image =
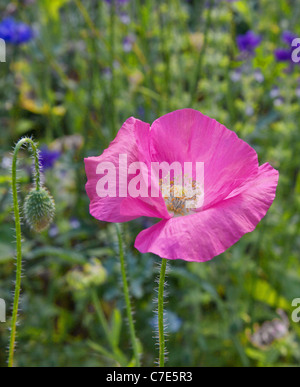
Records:
{"label": "hairy green unopened poppy bud hanging from the hooked stem", "polygon": [[36,232],[47,229],[54,219],[55,204],[49,192],[41,188],[32,190],[25,199],[24,215],[26,222]]}

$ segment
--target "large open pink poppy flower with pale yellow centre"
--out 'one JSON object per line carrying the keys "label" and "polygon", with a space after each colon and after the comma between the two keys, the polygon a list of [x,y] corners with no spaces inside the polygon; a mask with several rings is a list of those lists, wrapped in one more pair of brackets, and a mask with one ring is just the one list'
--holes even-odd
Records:
{"label": "large open pink poppy flower with pale yellow centre", "polygon": [[[120,155],[128,165],[140,163],[137,174],[127,174]],[[170,195],[153,196],[151,164],[203,163],[204,196],[200,208],[189,208],[184,189],[171,177]],[[101,165],[101,168],[99,168]],[[106,169],[115,171],[106,175]],[[135,247],[167,259],[205,262],[223,253],[244,234],[255,229],[275,199],[279,173],[270,164],[259,166],[255,150],[217,121],[183,109],[156,120],[152,126],[129,118],[116,139],[99,157],[85,159],[90,213],[107,222],[127,222],[141,216],[161,219],[142,231]],[[148,167],[148,168],[146,168]],[[125,174],[127,176],[124,178]],[[99,179],[115,179],[112,195],[99,196]],[[164,176],[163,176],[164,177]],[[193,187],[197,183],[191,176]],[[128,187],[145,183],[148,195],[129,195]],[[101,183],[102,184],[102,183]],[[179,187],[182,188],[182,187]],[[107,191],[109,192],[109,190]]]}

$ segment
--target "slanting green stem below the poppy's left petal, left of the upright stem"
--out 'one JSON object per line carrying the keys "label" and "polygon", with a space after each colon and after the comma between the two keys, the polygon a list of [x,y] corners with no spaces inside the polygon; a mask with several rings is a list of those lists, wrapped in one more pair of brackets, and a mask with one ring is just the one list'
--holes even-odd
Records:
{"label": "slanting green stem below the poppy's left petal, left of the upright stem", "polygon": [[125,258],[124,258],[122,235],[121,235],[121,231],[120,231],[120,228],[118,225],[116,225],[116,229],[117,229],[118,241],[119,241],[121,273],[122,273],[123,290],[124,290],[124,297],[125,297],[125,302],[126,302],[126,311],[127,311],[127,318],[128,318],[128,323],[129,323],[130,337],[131,337],[134,357],[136,360],[136,366],[140,367],[141,364],[140,364],[139,346],[138,346],[138,341],[137,341],[136,334],[135,334],[133,315],[132,315],[132,307],[131,307],[130,296],[129,296],[129,286],[128,286],[128,281],[127,281],[126,268],[125,268]]}

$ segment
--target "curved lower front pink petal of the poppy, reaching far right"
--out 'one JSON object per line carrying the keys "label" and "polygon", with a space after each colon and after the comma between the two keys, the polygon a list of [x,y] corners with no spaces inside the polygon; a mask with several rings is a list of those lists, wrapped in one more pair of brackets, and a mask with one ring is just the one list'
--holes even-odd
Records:
{"label": "curved lower front pink petal of the poppy, reaching far right", "polygon": [[161,221],[142,231],[135,247],[167,259],[211,260],[255,229],[273,203],[278,177],[264,164],[235,196],[202,212]]}

